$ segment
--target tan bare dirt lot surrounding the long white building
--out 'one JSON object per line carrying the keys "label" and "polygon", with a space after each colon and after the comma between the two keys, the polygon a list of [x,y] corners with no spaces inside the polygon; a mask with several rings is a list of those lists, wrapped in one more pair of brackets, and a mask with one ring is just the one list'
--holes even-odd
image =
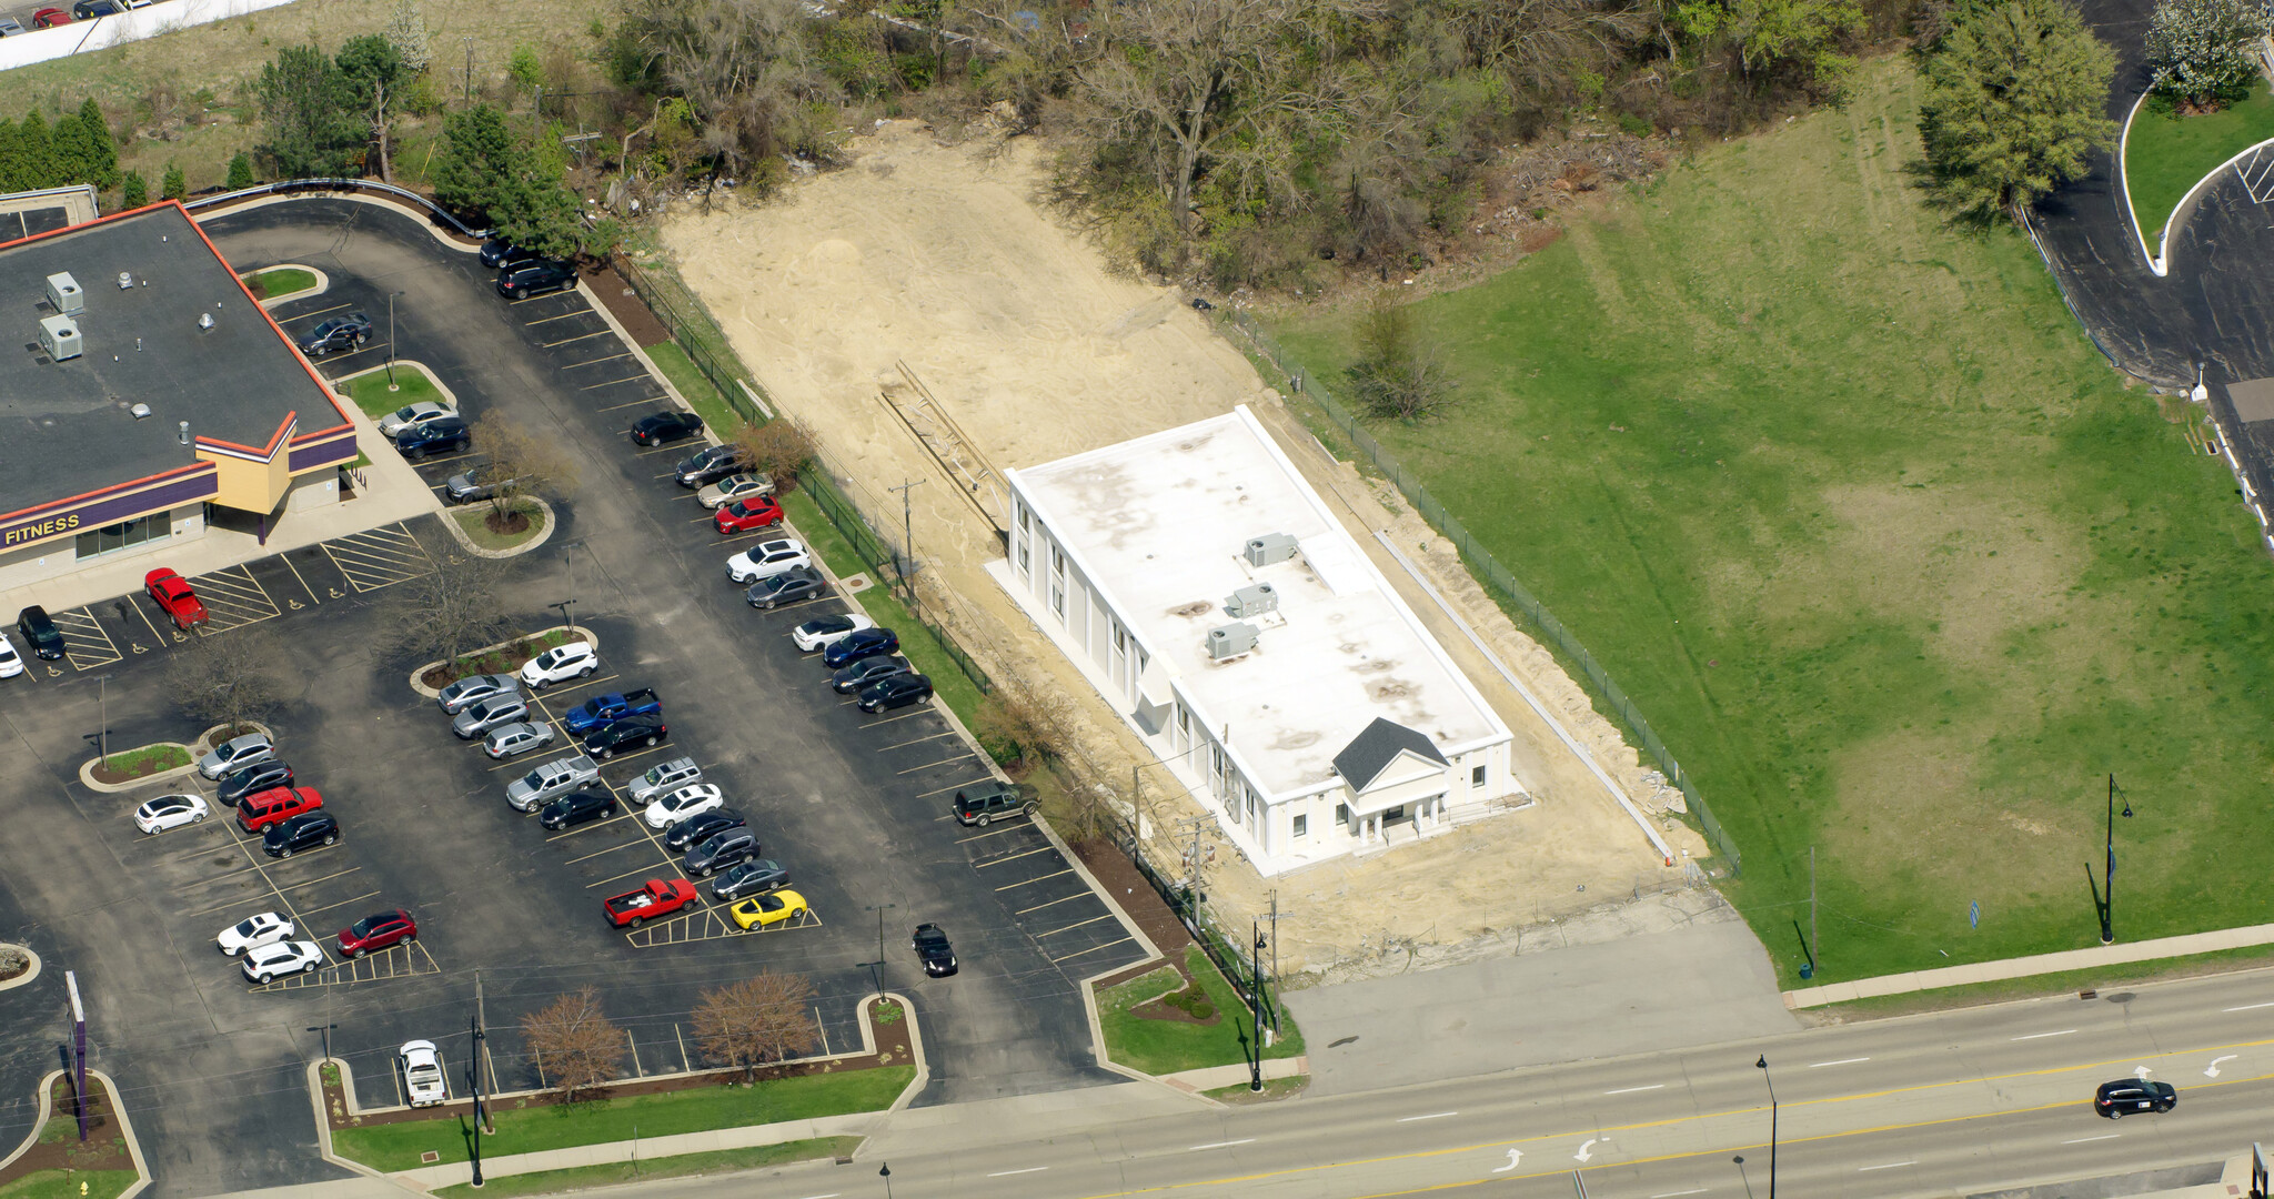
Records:
{"label": "tan bare dirt lot surrounding the long white building", "polygon": [[[1380,553],[1373,530],[1387,530],[1626,794],[1653,810],[1653,826],[1676,853],[1703,853],[1655,812],[1660,792],[1642,778],[1635,753],[1485,601],[1444,539],[1394,494],[1385,503],[1378,485],[1326,455],[1182,293],[1114,275],[1094,246],[1037,207],[1041,152],[1030,139],[944,146],[919,123],[887,123],[855,141],[848,168],[805,180],[764,207],[678,216],[664,243],[775,403],[819,432],[832,473],[853,480],[871,516],[898,516],[898,496],[887,487],[928,480],[910,494],[912,537],[941,607],[957,617],[957,635],[991,671],[1016,662],[1078,696],[1092,749],[1123,762],[1121,771],[1139,760],[1135,737],[982,573],[1003,551],[980,512],[1001,519],[1001,498],[985,482],[971,496],[944,485],[941,464],[882,394],[912,396],[905,364],[962,428],[980,478],[1239,403],[1273,428],[1514,730],[1517,769],[1537,799],[1449,837],[1276,883],[1221,846],[1207,874],[1212,906],[1237,921],[1264,910],[1276,885],[1283,910],[1294,912],[1280,919],[1287,974],[1351,978],[1514,951],[1521,931],[1590,910],[1596,919],[1585,924],[1601,935],[1685,919],[1685,906],[1665,903],[1603,917],[1603,908],[1630,903],[1637,887],[1658,890],[1683,871],[1665,867],[1549,721]],[[1176,808],[1157,817],[1196,810],[1189,799]],[[1162,849],[1157,860],[1169,853]]]}

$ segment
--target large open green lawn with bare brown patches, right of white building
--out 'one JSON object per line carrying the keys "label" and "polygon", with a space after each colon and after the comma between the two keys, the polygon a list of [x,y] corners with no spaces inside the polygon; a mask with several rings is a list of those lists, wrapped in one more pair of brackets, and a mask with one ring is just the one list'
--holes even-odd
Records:
{"label": "large open green lawn with bare brown patches, right of white building", "polygon": [[[1787,983],[1810,846],[1819,981],[2097,944],[2110,771],[2122,937],[2274,919],[2258,526],[1917,157],[1910,64],[1862,66],[1419,303],[1469,398],[1373,432],[1680,758]],[[1280,323],[1314,378],[1346,316]]]}

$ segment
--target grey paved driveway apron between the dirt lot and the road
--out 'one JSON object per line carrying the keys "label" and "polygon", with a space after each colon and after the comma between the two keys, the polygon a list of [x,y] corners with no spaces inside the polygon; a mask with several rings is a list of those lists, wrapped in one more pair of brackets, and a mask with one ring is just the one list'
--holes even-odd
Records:
{"label": "grey paved driveway apron between the dirt lot and the road", "polygon": [[[1310,1092],[1353,1094],[1799,1028],[1728,908],[1601,944],[1287,992]],[[1344,1042],[1344,1044],[1337,1044]]]}

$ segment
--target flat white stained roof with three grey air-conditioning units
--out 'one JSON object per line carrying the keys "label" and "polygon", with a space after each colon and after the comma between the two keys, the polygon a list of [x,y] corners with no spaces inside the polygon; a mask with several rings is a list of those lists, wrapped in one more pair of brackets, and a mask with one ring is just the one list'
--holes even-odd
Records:
{"label": "flat white stained roof with three grey air-conditioning units", "polygon": [[[1330,780],[1373,717],[1446,753],[1508,737],[1244,405],[1010,478],[1212,733],[1230,723],[1269,794]],[[1269,532],[1296,537],[1296,557],[1248,567],[1248,539]],[[1223,603],[1251,582],[1271,582],[1278,612],[1248,619],[1253,653],[1212,662],[1207,630],[1233,623]]]}

